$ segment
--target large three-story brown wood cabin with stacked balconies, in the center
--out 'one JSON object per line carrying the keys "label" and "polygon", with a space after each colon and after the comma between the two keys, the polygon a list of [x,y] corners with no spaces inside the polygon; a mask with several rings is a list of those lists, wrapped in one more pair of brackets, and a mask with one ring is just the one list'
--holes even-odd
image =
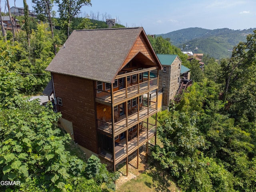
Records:
{"label": "large three-story brown wood cabin with stacked balconies, in the center", "polygon": [[128,174],[128,156],[156,137],[158,76],[148,74],[162,66],[144,29],[74,30],[46,70],[61,125],[114,171],[126,160]]}

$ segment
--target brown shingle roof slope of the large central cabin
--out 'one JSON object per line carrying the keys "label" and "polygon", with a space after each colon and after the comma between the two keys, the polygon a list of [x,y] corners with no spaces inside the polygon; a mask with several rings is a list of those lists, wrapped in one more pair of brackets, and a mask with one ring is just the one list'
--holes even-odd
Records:
{"label": "brown shingle roof slope of the large central cabin", "polygon": [[142,27],[74,30],[46,70],[112,82],[141,32]]}

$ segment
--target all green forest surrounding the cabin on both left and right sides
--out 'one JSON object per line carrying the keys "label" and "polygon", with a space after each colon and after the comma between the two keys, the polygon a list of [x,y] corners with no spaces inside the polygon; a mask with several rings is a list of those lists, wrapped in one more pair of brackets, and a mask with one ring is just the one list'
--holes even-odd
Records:
{"label": "all green forest surrounding the cabin on both left and right sides", "polygon": [[[47,1],[33,2],[40,8]],[[85,160],[68,150],[70,136],[57,126],[60,113],[54,113],[51,105],[27,102],[49,82],[45,68],[72,30],[106,27],[97,20],[74,18],[67,5],[59,6],[58,19],[38,9],[44,23],[20,17],[22,30],[0,35],[0,180],[21,182],[1,185],[0,191],[115,188],[117,174],[108,172],[96,156]],[[198,62],[188,62],[170,39],[148,38],[156,53],[178,54],[193,80],[180,103],[172,102],[157,115],[161,145],[152,148],[154,163],[182,191],[255,191],[256,31],[235,46],[230,58],[217,62],[204,56],[204,72]]]}

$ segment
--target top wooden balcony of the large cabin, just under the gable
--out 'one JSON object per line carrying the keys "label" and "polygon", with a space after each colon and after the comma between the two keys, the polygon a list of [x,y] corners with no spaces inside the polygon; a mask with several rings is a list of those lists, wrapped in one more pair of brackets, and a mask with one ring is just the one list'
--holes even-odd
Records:
{"label": "top wooden balcony of the large cabin, just under the gable", "polygon": [[[143,94],[149,92],[150,90],[154,90],[158,87],[158,78],[152,78],[151,80],[147,80],[137,84],[130,84],[127,88],[122,88],[113,92],[113,103],[117,104],[118,102],[122,102],[123,100],[132,98],[137,94]],[[96,102],[102,104],[111,104],[111,93],[105,90],[96,89]]]}

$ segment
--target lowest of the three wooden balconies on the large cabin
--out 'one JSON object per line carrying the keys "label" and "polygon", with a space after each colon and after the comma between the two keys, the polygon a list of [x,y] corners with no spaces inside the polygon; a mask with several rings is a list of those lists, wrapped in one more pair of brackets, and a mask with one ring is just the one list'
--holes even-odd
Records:
{"label": "lowest of the three wooden balconies on the large cabin", "polygon": [[[126,145],[126,139],[121,140],[119,143],[115,143],[114,154],[115,162],[118,163],[123,160],[126,156],[132,154],[136,149],[142,146],[145,142],[148,142],[156,133],[156,126],[149,124],[148,131],[147,128],[142,128],[139,135],[130,140],[128,140]],[[100,148],[100,155],[104,158],[113,161],[113,154],[107,150]]]}

